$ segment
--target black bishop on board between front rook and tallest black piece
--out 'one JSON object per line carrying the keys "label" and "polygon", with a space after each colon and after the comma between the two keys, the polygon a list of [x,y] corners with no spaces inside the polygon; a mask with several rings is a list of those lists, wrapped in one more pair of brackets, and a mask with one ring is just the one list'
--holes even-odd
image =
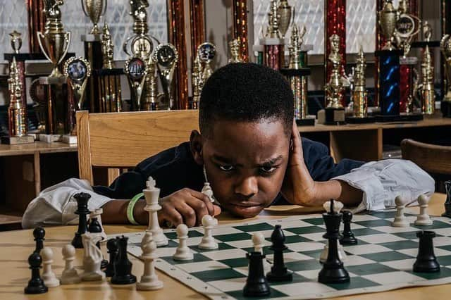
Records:
{"label": "black bishop on board between front rook and tallest black piece", "polygon": [[287,270],[285,263],[283,262],[283,251],[288,249],[288,247],[284,244],[285,235],[283,234],[280,225],[276,225],[276,228],[274,228],[274,231],[271,234],[271,242],[273,244],[269,249],[274,252],[274,261],[271,272],[266,274],[266,279],[270,282],[292,281],[293,275]]}

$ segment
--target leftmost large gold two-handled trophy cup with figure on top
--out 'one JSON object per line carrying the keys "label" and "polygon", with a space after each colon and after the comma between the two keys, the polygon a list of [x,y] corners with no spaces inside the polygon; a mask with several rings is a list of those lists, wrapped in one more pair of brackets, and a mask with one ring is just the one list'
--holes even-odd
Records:
{"label": "leftmost large gold two-handled trophy cup with figure on top", "polygon": [[70,32],[64,31],[63,23],[61,23],[61,11],[59,6],[63,5],[63,0],[45,0],[44,13],[46,22],[44,26],[44,34],[37,32],[37,42],[44,56],[54,66],[49,79],[59,81],[63,75],[58,70],[58,65],[66,56],[70,44]]}

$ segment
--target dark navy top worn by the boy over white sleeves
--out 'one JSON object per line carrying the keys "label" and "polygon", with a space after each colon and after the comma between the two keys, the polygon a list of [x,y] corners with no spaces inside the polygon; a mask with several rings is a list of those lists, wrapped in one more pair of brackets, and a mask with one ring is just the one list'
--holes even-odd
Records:
{"label": "dark navy top worn by the boy over white sleeves", "polygon": [[[327,181],[363,165],[360,161],[342,159],[334,163],[328,153],[328,147],[319,142],[302,138],[304,161],[309,173],[315,181]],[[204,187],[204,172],[202,165],[194,162],[189,142],[144,159],[136,168],[120,175],[110,187],[94,187],[94,192],[108,196],[111,199],[131,199],[145,188],[146,180],[152,176],[156,186],[161,189],[160,196],[168,196],[173,192],[188,187],[196,191]],[[273,204],[287,204],[280,194]]]}

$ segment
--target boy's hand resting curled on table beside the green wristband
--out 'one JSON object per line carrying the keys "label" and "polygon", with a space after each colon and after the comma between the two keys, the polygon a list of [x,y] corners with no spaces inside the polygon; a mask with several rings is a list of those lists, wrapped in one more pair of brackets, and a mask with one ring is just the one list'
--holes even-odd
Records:
{"label": "boy's hand resting curled on table beside the green wristband", "polygon": [[218,215],[219,206],[213,205],[208,196],[193,189],[179,191],[161,199],[159,223],[167,220],[177,226],[185,223],[188,227],[200,225],[204,215]]}

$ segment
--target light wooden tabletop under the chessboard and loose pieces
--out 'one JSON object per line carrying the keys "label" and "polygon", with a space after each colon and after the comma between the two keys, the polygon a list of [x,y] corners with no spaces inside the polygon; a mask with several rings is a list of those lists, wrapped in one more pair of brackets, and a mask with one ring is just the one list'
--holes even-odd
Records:
{"label": "light wooden tabletop under the chessboard and loose pieces", "polygon": [[[443,212],[444,194],[434,194],[430,213],[439,215]],[[417,213],[419,208],[409,208]],[[268,219],[284,218],[288,215],[306,213],[313,211],[311,208],[305,209],[299,206],[277,206],[268,209],[256,218],[247,219]],[[221,224],[243,222],[222,215]],[[108,234],[118,234],[124,232],[136,232],[144,230],[142,226],[113,226],[106,225],[105,230]],[[57,276],[63,271],[64,262],[61,256],[61,248],[68,244],[76,231],[75,226],[50,227],[47,228],[45,246],[50,246],[54,250],[53,270]],[[102,247],[106,255],[105,246]],[[32,230],[20,230],[11,232],[0,232],[0,299],[205,299],[204,296],[194,292],[189,287],[173,280],[171,277],[159,273],[159,278],[163,280],[164,287],[158,291],[140,292],[135,289],[135,285],[109,285],[108,282],[82,282],[78,285],[62,285],[60,287],[49,289],[47,294],[25,295],[23,289],[30,280],[30,270],[28,269],[27,258],[35,249],[35,242],[32,237]],[[75,265],[82,265],[82,249],[77,250]],[[143,264],[137,258],[129,256],[133,263],[133,273],[140,278],[143,271]],[[432,287],[412,287],[407,289],[398,289],[390,292],[376,294],[360,294],[348,296],[347,299],[448,299],[451,294],[451,285],[439,285]],[[345,299],[338,298],[338,299]]]}

